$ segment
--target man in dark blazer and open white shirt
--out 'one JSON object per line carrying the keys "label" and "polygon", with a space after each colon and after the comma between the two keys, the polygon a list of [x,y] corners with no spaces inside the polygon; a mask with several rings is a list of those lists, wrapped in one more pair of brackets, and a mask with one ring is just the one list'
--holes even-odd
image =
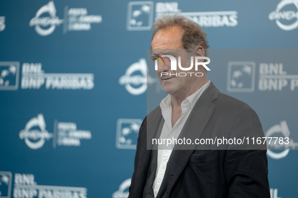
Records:
{"label": "man in dark blazer and open white shirt", "polygon": [[[189,61],[190,55],[207,56],[206,33],[195,22],[166,15],[153,28],[153,61],[164,54],[181,56],[180,64],[187,68],[194,61]],[[255,111],[219,92],[205,67],[188,71],[202,76],[181,77],[176,74],[185,69],[171,70],[170,59],[163,57],[156,73],[169,95],[140,127],[129,197],[270,197],[266,150],[214,150],[212,145],[177,143],[158,145],[158,150],[147,147],[154,138],[263,136]]]}

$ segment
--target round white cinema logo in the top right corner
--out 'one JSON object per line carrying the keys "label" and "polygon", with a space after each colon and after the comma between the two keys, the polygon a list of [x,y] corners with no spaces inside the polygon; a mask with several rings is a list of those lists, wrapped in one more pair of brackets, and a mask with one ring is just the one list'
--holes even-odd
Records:
{"label": "round white cinema logo in the top right corner", "polygon": [[[285,10],[292,8],[294,10]],[[276,25],[285,31],[298,27],[298,0],[282,0],[276,10],[269,14],[269,20],[275,20]]]}

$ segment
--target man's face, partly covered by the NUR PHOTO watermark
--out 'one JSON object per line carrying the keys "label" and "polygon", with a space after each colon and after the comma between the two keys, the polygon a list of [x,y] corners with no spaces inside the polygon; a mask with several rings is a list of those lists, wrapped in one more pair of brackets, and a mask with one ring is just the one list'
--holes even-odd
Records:
{"label": "man's face, partly covered by the NUR PHOTO watermark", "polygon": [[[178,56],[181,56],[181,65],[182,67],[189,67],[190,57],[187,56],[187,52],[183,49],[182,44],[182,35],[183,30],[179,27],[171,27],[166,30],[159,30],[155,36],[153,37],[151,47],[152,53],[161,55],[172,55],[176,58],[176,62],[178,64]],[[176,50],[175,50],[176,49]],[[154,55],[153,55],[154,56]],[[188,74],[188,76],[175,76],[172,74],[180,73],[180,72],[198,72],[195,71],[195,67],[189,71],[181,70],[177,65],[177,70],[171,70],[170,59],[167,57],[163,57],[165,65],[161,64],[158,61],[158,69],[156,70],[159,81],[166,93],[169,93],[174,96],[184,95],[188,92],[189,87],[193,83],[196,83],[198,80],[197,76]],[[168,75],[162,74],[161,72],[166,72]],[[169,75],[171,74],[171,75]]]}

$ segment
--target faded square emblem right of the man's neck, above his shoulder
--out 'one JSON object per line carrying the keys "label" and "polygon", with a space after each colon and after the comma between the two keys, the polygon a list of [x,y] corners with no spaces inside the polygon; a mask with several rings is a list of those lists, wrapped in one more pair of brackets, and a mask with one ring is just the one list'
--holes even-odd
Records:
{"label": "faded square emblem right of the man's neck, above his shoulder", "polygon": [[227,73],[227,91],[254,92],[255,62],[229,62]]}

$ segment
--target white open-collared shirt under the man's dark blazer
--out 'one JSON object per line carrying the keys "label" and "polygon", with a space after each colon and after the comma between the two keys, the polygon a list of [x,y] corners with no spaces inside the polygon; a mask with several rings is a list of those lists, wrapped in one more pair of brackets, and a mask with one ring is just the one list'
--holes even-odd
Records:
{"label": "white open-collared shirt under the man's dark blazer", "polygon": [[[182,114],[180,119],[175,123],[175,125],[172,127],[172,106],[171,106],[171,97],[170,94],[168,94],[160,103],[161,108],[161,114],[164,119],[164,124],[161,130],[161,134],[159,137],[159,140],[162,139],[178,139],[178,136],[181,133],[181,130],[188,119],[192,109],[194,108],[196,102],[198,101],[199,97],[202,95],[202,93],[206,90],[206,88],[209,86],[209,82],[204,84],[199,90],[197,90],[194,94],[188,96],[181,104]],[[165,145],[159,144],[158,150],[157,150],[157,167],[156,167],[156,174],[155,174],[155,180],[153,182],[153,192],[154,197],[156,197],[158,190],[160,188],[161,182],[164,177],[166,164],[169,160],[169,157],[172,153],[172,149],[174,147],[174,144],[171,145]]]}

